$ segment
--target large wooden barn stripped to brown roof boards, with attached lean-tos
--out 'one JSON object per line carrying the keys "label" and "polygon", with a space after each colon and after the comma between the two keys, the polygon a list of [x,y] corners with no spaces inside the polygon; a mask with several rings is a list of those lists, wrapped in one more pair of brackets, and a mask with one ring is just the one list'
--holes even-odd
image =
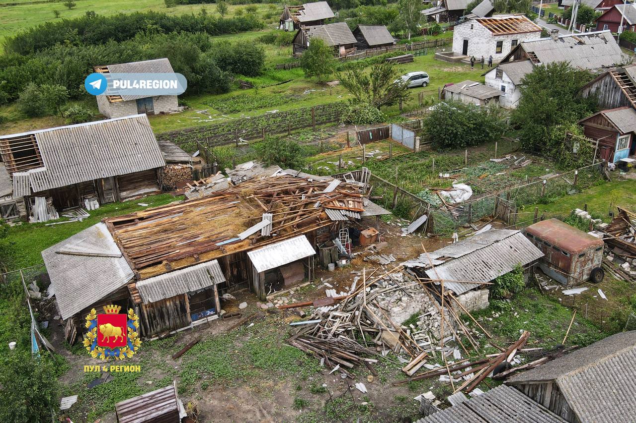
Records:
{"label": "large wooden barn stripped to brown roof boards, with attached lean-tos", "polygon": [[249,288],[265,300],[312,280],[318,246],[342,239],[341,229],[365,216],[388,213],[362,191],[281,170],[104,219],[42,252],[67,340],[105,304],[134,309],[141,335],[154,337],[218,318],[223,293]]}

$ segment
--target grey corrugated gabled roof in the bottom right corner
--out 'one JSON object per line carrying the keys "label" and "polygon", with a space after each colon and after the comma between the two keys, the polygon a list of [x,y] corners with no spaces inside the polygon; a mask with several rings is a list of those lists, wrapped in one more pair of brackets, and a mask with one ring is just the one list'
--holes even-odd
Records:
{"label": "grey corrugated gabled roof in the bottom right corner", "polygon": [[636,415],[636,331],[590,346],[511,377],[509,384],[556,381],[582,423],[633,422]]}

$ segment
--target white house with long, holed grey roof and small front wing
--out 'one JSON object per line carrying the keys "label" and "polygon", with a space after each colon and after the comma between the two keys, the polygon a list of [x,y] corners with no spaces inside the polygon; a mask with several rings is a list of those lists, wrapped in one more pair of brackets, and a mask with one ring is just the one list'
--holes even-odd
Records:
{"label": "white house with long, holed grey roof and small front wing", "polygon": [[[504,92],[502,107],[514,109],[521,100],[519,87],[534,67],[555,62],[568,62],[577,69],[604,72],[605,69],[627,64],[631,59],[621,51],[608,30],[584,34],[559,35],[522,41],[501,62],[483,75],[485,84]],[[625,104],[623,104],[625,105]]]}

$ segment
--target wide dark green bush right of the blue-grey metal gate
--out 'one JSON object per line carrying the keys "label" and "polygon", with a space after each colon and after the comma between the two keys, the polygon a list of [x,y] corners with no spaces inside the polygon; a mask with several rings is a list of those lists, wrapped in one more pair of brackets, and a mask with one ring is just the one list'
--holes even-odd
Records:
{"label": "wide dark green bush right of the blue-grey metal gate", "polygon": [[424,119],[424,138],[440,150],[496,140],[505,131],[502,113],[496,106],[441,102]]}

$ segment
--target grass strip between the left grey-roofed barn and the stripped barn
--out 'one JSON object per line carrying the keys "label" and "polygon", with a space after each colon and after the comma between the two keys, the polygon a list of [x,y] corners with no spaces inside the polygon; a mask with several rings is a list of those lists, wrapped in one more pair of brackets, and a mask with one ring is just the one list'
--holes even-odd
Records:
{"label": "grass strip between the left grey-roofed barn and the stripped barn", "polygon": [[[148,207],[156,207],[183,199],[170,194],[159,194],[142,199],[102,205],[97,210],[91,210],[90,217],[81,222],[50,225],[38,223],[15,225],[11,227],[6,238],[0,240],[1,261],[9,270],[22,269],[42,262],[42,250],[63,241],[89,226],[92,226],[104,217],[118,216]],[[139,206],[137,203],[145,203],[148,206]],[[66,217],[59,220],[68,220]],[[47,222],[51,223],[51,222]]]}

